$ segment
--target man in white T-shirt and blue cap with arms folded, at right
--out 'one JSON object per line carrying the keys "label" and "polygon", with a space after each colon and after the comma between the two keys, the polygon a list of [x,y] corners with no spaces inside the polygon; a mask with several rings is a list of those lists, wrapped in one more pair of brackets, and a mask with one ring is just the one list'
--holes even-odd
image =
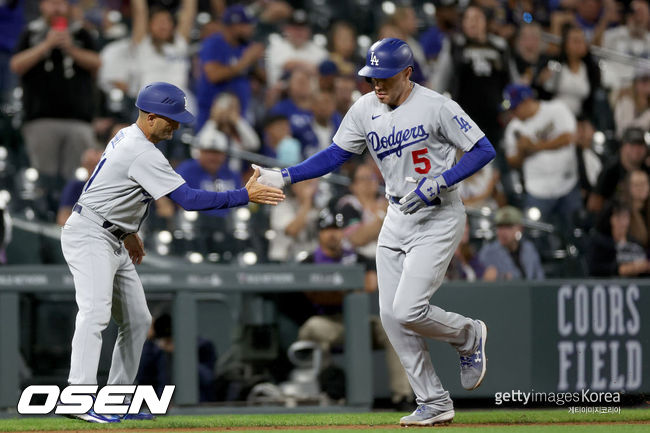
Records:
{"label": "man in white T-shirt and blue cap with arms folded, at right", "polygon": [[568,228],[582,208],[576,119],[562,101],[538,101],[526,85],[508,85],[504,97],[505,108],[514,114],[506,127],[506,158],[523,172],[526,207],[536,207],[542,219],[559,219]]}

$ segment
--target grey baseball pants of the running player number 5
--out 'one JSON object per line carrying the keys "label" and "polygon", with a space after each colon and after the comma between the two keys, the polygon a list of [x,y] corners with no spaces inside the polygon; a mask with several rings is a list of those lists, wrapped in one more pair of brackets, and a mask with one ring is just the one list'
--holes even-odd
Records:
{"label": "grey baseball pants of the running player number 5", "polygon": [[418,405],[449,410],[453,403],[431,362],[426,338],[445,341],[460,354],[476,350],[480,327],[429,300],[438,290],[465,228],[457,191],[442,206],[404,215],[388,207],[377,246],[381,321],[415,392]]}

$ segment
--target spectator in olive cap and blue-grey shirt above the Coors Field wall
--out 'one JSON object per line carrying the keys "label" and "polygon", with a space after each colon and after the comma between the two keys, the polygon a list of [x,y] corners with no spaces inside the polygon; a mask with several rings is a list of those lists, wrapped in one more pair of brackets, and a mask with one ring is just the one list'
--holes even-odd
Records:
{"label": "spectator in olive cap and blue-grey shirt above the Coors Field wall", "polygon": [[543,280],[544,269],[535,245],[522,237],[523,215],[513,206],[497,210],[494,222],[497,239],[478,253],[485,272],[496,268],[499,280]]}

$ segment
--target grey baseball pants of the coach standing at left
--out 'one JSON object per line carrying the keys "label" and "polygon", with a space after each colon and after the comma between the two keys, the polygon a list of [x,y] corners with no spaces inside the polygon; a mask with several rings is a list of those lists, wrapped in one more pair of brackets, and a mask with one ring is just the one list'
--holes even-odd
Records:
{"label": "grey baseball pants of the coach standing at left", "polygon": [[108,384],[132,384],[151,314],[128,252],[106,229],[76,212],[63,227],[61,247],[72,272],[79,307],[68,383],[97,384],[102,331],[112,316],[119,331]]}

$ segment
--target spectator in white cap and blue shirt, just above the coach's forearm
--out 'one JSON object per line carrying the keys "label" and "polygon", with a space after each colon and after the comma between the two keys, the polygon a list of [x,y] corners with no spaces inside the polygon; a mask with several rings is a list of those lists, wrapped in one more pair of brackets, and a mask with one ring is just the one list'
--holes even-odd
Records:
{"label": "spectator in white cap and blue shirt, just above the coach's forearm", "polygon": [[[193,153],[198,151],[195,158],[183,161],[176,172],[181,175],[187,186],[205,191],[228,191],[241,188],[241,177],[234,173],[226,164],[228,139],[218,130],[209,136],[199,139]],[[226,216],[228,209],[211,211],[211,215]]]}

